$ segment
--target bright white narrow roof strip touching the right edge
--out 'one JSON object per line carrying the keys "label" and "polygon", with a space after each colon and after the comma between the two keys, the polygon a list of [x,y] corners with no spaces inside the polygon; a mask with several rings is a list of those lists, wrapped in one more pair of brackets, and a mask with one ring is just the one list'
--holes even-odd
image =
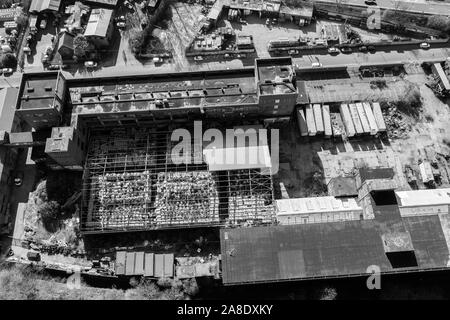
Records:
{"label": "bright white narrow roof strip touching the right edge", "polygon": [[396,191],[395,195],[401,207],[450,204],[450,188]]}

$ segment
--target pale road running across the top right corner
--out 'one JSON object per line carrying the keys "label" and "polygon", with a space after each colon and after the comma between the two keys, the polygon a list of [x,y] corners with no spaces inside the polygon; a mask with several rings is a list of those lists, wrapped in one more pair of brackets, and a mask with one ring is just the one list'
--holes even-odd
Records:
{"label": "pale road running across the top right corner", "polygon": [[[320,0],[317,3],[332,3],[336,5],[336,0]],[[421,14],[448,15],[450,13],[450,3],[433,1],[397,1],[397,0],[376,0],[380,9],[397,9]],[[339,0],[340,6],[364,6],[364,0]]]}

